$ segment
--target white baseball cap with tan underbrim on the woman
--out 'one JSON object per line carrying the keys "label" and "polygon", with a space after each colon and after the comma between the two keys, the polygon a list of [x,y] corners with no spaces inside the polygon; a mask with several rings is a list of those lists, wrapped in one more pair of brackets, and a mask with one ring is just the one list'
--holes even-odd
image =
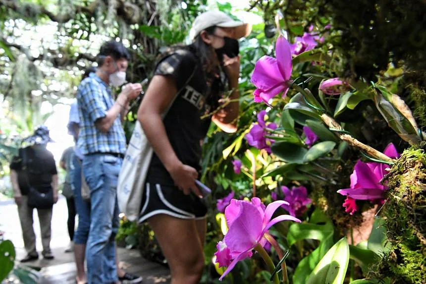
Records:
{"label": "white baseball cap with tan underbrim on the woman", "polygon": [[235,38],[248,36],[252,31],[252,25],[233,20],[230,16],[220,11],[208,11],[198,15],[192,24],[189,36],[195,39],[203,30],[209,27],[234,28]]}

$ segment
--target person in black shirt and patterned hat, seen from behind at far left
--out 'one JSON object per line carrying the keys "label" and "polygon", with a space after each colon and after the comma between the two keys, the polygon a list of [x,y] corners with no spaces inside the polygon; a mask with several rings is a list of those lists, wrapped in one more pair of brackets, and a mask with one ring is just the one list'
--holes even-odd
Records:
{"label": "person in black shirt and patterned hat, seen from behind at far left", "polygon": [[36,235],[33,227],[33,209],[37,209],[45,259],[53,259],[50,248],[53,204],[57,202],[58,178],[52,153],[46,149],[52,142],[49,129],[39,126],[34,134],[25,138],[23,143],[30,146],[19,149],[18,156],[10,163],[10,181],[19,221],[22,228],[27,256],[21,262],[39,258],[36,249]]}

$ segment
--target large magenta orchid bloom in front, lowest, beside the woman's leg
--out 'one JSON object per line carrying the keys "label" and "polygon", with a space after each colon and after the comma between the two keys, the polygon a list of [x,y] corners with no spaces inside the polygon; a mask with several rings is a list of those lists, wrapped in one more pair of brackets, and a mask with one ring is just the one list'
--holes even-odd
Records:
{"label": "large magenta orchid bloom in front, lowest, beside the woman's leg", "polygon": [[252,198],[251,202],[231,200],[231,204],[225,209],[229,229],[223,241],[217,244],[217,252],[214,253],[219,267],[227,266],[219,280],[222,280],[239,261],[251,257],[252,250],[257,245],[266,245],[264,235],[271,226],[284,220],[301,222],[290,215],[281,215],[271,220],[275,210],[284,204],[288,205],[285,201],[275,201],[265,207],[257,197]]}

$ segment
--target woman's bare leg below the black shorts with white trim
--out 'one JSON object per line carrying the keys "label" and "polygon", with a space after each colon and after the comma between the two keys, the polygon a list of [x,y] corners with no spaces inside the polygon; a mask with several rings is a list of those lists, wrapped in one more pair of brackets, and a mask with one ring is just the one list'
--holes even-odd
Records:
{"label": "woman's bare leg below the black shorts with white trim", "polygon": [[204,269],[197,221],[159,214],[148,219],[171,271],[171,284],[197,284]]}

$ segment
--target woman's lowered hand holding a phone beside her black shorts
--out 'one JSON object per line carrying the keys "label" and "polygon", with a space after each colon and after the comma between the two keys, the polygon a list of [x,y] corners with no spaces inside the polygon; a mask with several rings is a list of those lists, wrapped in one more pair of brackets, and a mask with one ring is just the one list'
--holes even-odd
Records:
{"label": "woman's lowered hand holding a phone beside her black shorts", "polygon": [[174,184],[180,190],[183,190],[183,193],[188,195],[191,191],[193,191],[197,196],[202,196],[200,190],[195,184],[195,180],[198,178],[197,170],[180,163],[173,167],[169,172],[173,178]]}

